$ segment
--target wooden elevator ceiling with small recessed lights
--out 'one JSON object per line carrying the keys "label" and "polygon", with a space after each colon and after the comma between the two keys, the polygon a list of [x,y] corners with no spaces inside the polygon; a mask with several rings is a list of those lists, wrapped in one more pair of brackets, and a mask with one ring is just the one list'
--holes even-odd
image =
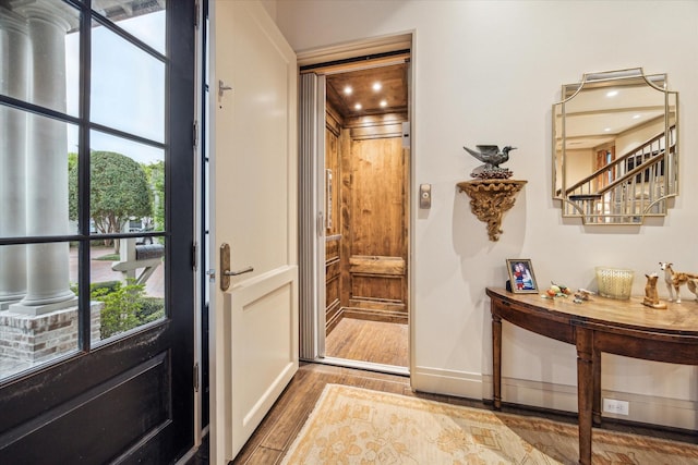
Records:
{"label": "wooden elevator ceiling with small recessed lights", "polygon": [[401,62],[327,74],[327,102],[345,118],[407,111],[408,64]]}

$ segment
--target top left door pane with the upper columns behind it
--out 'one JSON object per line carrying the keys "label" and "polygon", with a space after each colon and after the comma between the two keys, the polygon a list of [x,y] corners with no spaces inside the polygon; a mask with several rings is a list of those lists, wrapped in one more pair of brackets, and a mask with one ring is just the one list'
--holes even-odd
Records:
{"label": "top left door pane with the upper columns behind it", "polygon": [[[77,115],[80,13],[55,0],[12,11],[0,2],[0,93]],[[69,39],[70,38],[70,39]],[[11,63],[11,65],[7,65]],[[70,78],[68,78],[70,76]]]}

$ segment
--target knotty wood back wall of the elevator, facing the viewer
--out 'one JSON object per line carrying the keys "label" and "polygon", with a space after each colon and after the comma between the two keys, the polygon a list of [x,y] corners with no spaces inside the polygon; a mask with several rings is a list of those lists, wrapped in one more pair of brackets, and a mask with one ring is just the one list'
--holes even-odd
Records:
{"label": "knotty wood back wall of the elevator, facing the viewer", "polygon": [[342,196],[349,213],[345,315],[406,322],[406,155],[400,137],[377,137],[380,131],[352,139],[342,160],[351,173]]}

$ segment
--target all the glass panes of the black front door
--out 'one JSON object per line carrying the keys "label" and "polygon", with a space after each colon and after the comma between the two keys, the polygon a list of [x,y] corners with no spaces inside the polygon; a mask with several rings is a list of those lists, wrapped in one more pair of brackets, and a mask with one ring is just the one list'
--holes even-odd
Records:
{"label": "all the glass panes of the black front door", "polygon": [[[165,49],[164,3],[92,2],[156,50]],[[116,15],[116,7],[128,14]],[[166,68],[163,57],[93,22],[83,37],[89,87],[81,88],[79,20],[63,1],[0,0],[0,95],[20,100],[0,103],[0,382],[166,314]],[[80,112],[81,96],[89,97],[89,114]],[[91,147],[80,146],[81,129]],[[81,178],[83,164],[89,172]],[[89,215],[81,212],[88,206]],[[89,228],[79,225],[84,217]],[[81,235],[87,231],[94,235]],[[89,298],[79,295],[87,289]]]}

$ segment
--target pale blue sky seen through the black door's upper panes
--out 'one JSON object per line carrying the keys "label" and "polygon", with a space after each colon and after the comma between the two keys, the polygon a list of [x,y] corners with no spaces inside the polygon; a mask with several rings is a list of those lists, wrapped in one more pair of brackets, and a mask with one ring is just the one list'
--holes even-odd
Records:
{"label": "pale blue sky seen through the black door's upper panes", "polygon": [[[118,25],[154,49],[165,51],[165,11],[120,21]],[[165,64],[106,27],[94,27],[91,119],[164,143]],[[79,34],[65,38],[68,113],[79,114]],[[164,151],[93,131],[93,150],[117,151],[139,162],[164,160]],[[77,151],[77,127],[69,125],[68,151]]]}

